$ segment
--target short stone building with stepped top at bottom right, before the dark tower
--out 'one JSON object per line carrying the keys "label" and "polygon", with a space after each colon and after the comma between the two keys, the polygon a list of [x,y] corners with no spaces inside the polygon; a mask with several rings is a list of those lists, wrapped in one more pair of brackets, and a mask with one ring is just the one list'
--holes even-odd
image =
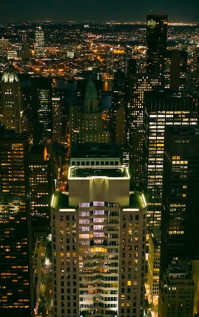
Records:
{"label": "short stone building with stepped top at bottom right, before the dark tower", "polygon": [[158,316],[192,317],[194,283],[188,259],[172,260],[161,281]]}

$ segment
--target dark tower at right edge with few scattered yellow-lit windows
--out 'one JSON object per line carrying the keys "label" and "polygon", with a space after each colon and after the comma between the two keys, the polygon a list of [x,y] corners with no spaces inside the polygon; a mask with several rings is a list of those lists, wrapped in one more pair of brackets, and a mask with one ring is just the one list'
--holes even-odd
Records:
{"label": "dark tower at right edge with few scattered yellow-lit windows", "polygon": [[187,256],[195,285],[194,313],[198,305],[198,204],[199,129],[168,127],[165,131],[161,271],[171,258]]}

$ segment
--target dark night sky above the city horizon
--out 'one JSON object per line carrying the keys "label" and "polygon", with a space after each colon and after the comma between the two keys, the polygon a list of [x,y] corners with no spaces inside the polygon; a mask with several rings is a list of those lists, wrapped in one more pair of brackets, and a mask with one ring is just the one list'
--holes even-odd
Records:
{"label": "dark night sky above the city horizon", "polygon": [[146,21],[168,14],[170,22],[199,22],[199,0],[2,0],[0,22],[7,21]]}

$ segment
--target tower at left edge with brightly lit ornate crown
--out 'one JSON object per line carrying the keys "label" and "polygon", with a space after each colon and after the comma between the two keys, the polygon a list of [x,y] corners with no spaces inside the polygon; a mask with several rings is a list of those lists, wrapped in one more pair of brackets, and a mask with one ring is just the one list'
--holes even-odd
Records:
{"label": "tower at left edge with brightly lit ornate crown", "polygon": [[11,70],[3,72],[2,76],[2,114],[5,129],[21,133],[21,98],[19,78]]}

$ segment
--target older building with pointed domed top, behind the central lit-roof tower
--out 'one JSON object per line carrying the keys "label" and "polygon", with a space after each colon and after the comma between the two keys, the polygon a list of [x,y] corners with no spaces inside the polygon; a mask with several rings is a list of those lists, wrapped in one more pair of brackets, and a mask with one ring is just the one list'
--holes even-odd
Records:
{"label": "older building with pointed domed top, behind the central lit-roof tower", "polygon": [[102,117],[98,94],[93,80],[89,80],[84,105],[70,106],[70,142],[109,142],[107,122]]}

